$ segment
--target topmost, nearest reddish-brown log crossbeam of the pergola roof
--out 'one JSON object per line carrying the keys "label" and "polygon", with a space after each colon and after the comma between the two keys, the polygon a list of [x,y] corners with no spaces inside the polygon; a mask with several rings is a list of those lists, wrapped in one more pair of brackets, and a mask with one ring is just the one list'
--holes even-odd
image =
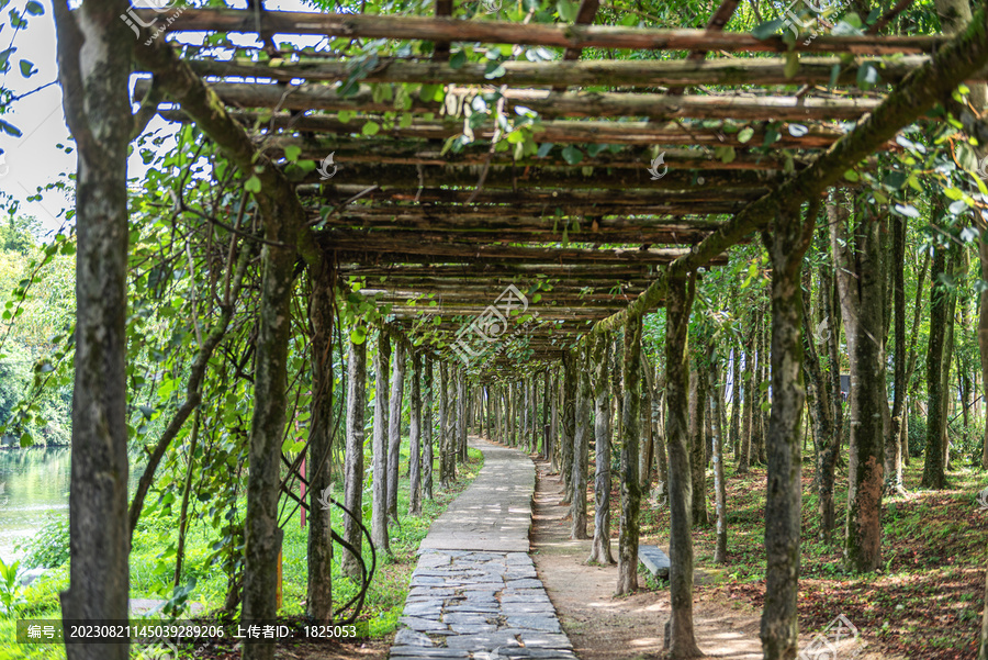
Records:
{"label": "topmost, nearest reddish-brown log crossbeam of the pergola roof", "polygon": [[[135,13],[145,22],[159,14],[148,9]],[[233,9],[184,9],[169,32],[237,32],[256,34],[316,34],[352,38],[427,40],[433,42],[483,42],[557,46],[560,48],[615,48],[647,51],[733,51],[786,53],[782,36],[760,40],[746,33],[708,34],[704,30],[653,30],[596,25],[523,25],[506,21],[463,21],[351,13],[266,11],[258,24],[250,11]],[[930,53],[942,38],[934,36],[831,36],[820,35],[794,48],[810,53]]]}

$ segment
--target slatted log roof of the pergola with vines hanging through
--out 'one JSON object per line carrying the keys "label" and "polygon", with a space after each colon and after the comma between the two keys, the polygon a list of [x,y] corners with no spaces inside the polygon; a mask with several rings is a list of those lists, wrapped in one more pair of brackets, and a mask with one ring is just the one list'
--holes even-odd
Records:
{"label": "slatted log roof of the pergola with vines hanging through", "polygon": [[[437,18],[189,9],[169,31],[434,42],[431,60],[270,45],[186,59],[270,157],[334,154],[333,178],[310,170],[296,191],[319,247],[341,276],[362,278],[361,294],[391,305],[395,324],[456,334],[514,284],[539,315],[525,343],[552,357],[637,299],[639,313],[662,304],[655,279],[674,259],[723,262],[754,228],[744,213],[756,200],[833,152],[886,86],[927,66],[944,41],[819,35],[790,48],[779,36],[722,32],[737,4],[725,0],[707,31],[590,25],[593,0],[576,25],[444,18],[451,3],[438,1]],[[565,51],[492,71],[451,61],[458,44]],[[588,47],[644,58],[579,60]],[[797,61],[800,53],[811,56]],[[861,79],[875,86],[862,91]],[[396,107],[391,83],[403,82],[424,88]],[[138,80],[136,94],[150,88]],[[538,115],[530,137],[542,150],[495,150],[510,126],[494,118],[526,113]],[[159,114],[190,121],[180,108]],[[472,141],[451,150],[464,133]],[[869,150],[896,148],[878,141]]]}

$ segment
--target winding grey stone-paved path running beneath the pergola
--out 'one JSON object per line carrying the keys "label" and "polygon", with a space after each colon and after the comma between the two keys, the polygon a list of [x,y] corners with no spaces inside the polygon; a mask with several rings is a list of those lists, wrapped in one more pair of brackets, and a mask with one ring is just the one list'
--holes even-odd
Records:
{"label": "winding grey stone-paved path running beneath the pergola", "polygon": [[576,660],[528,556],[535,466],[471,438],[484,468],[419,547],[391,658]]}

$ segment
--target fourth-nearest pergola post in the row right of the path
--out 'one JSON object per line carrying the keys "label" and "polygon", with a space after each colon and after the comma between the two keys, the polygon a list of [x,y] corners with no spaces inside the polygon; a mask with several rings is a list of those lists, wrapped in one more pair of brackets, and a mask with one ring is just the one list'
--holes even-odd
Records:
{"label": "fourth-nearest pergola post in the row right of the path", "polygon": [[610,553],[610,333],[594,340],[594,544],[588,562],[609,566]]}

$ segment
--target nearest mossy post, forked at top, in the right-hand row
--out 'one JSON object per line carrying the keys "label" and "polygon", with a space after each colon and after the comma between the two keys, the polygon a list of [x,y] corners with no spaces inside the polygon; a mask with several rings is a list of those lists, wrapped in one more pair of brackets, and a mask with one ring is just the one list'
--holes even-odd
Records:
{"label": "nearest mossy post, forked at top, in the right-hand row", "polygon": [[[798,644],[799,532],[802,512],[802,255],[812,239],[817,204],[806,225],[797,209],[779,209],[762,233],[772,265],[772,413],[765,500],[765,660],[793,660]],[[880,320],[880,316],[879,316]]]}

